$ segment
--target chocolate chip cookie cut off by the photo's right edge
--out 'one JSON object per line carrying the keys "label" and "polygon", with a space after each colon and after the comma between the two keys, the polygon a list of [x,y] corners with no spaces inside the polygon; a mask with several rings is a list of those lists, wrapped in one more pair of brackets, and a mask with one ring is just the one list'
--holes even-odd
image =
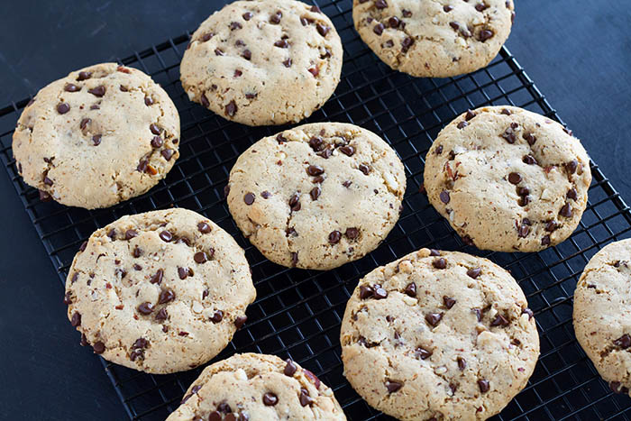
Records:
{"label": "chocolate chip cookie cut off by the photo's right edge", "polygon": [[591,258],[574,291],[574,331],[600,376],[616,393],[631,389],[631,240]]}

